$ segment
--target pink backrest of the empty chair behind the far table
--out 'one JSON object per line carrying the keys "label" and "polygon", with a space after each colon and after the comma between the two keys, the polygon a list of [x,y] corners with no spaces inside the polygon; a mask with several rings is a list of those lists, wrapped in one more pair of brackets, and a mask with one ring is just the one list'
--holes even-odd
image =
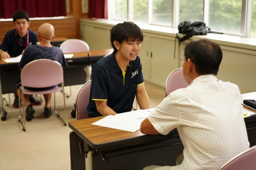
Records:
{"label": "pink backrest of the empty chair behind the far table", "polygon": [[64,41],[61,46],[63,53],[87,52],[89,45],[81,39],[68,39]]}

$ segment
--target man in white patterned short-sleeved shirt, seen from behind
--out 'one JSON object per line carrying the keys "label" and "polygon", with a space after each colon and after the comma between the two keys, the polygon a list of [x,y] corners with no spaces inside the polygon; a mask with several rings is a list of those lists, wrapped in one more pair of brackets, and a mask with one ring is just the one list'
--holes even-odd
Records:
{"label": "man in white patterned short-sleeved shirt, seen from behind", "polygon": [[200,39],[189,42],[184,51],[183,75],[191,85],[171,92],[141,124],[144,134],[167,135],[177,128],[184,159],[180,165],[144,170],[219,169],[249,149],[239,87],[215,77],[221,47]]}

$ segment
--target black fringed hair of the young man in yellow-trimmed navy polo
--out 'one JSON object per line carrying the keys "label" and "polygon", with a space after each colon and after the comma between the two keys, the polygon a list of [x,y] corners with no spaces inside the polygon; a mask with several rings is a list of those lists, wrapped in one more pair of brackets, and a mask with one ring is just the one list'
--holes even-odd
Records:
{"label": "black fringed hair of the young man in yellow-trimmed navy polo", "polygon": [[112,47],[114,48],[114,51],[116,52],[117,49],[114,46],[114,41],[119,42],[122,44],[123,41],[143,41],[143,34],[139,26],[137,26],[133,22],[123,22],[118,23],[111,29],[110,33],[110,41],[112,44]]}

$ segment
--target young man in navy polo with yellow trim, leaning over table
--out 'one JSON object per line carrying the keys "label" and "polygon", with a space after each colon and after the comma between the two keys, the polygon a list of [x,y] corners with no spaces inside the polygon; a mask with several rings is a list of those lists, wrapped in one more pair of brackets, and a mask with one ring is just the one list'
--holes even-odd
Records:
{"label": "young man in navy polo with yellow trim, leaning over table", "polygon": [[119,23],[111,29],[110,40],[114,52],[92,68],[89,117],[131,111],[135,95],[140,108],[149,109],[137,56],[143,41],[141,29],[133,22]]}

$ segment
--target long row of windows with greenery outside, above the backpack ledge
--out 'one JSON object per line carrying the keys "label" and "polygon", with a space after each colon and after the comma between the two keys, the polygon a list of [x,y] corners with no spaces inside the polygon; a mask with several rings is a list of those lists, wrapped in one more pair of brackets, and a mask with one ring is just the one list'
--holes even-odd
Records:
{"label": "long row of windows with greenery outside, above the backpack ledge", "polygon": [[176,28],[189,19],[212,31],[256,37],[256,0],[109,0],[115,20]]}

